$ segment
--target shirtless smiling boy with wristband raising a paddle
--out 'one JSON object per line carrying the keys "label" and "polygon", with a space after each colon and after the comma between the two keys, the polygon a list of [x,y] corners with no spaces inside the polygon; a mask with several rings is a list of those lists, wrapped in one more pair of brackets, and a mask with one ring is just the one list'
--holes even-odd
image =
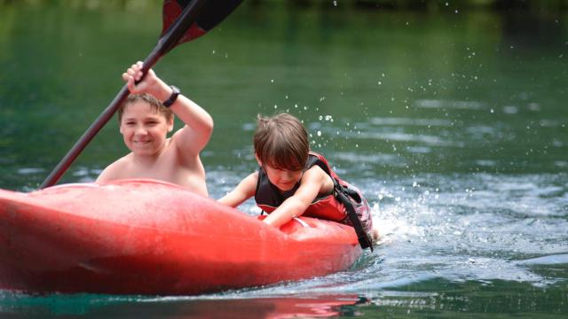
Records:
{"label": "shirtless smiling boy with wristband raising a paddle", "polygon": [[[153,178],[207,196],[199,153],[213,131],[211,116],[152,69],[136,84],[142,78],[141,69],[142,62],[138,61],[122,74],[131,94],[119,108],[118,120],[124,144],[131,152],[106,167],[97,183]],[[174,128],[174,113],[185,126],[167,138]]]}

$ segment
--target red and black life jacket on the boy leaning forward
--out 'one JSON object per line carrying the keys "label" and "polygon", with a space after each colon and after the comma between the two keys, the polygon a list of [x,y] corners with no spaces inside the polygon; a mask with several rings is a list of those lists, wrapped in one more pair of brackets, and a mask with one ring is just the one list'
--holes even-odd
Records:
{"label": "red and black life jacket on the boy leaning forward", "polygon": [[[369,247],[370,245],[371,250],[373,250],[370,239],[368,239],[373,229],[373,221],[371,220],[371,210],[368,206],[367,199],[363,197],[359,189],[339,178],[322,155],[316,152],[310,152],[304,171],[312,168],[314,165],[318,165],[332,178],[334,191],[331,194],[315,198],[302,215],[353,226],[358,232],[359,243],[361,241],[367,242],[366,244],[361,244],[361,246],[366,248],[366,246]],[[256,206],[270,214],[280,206],[284,200],[294,195],[299,187],[300,182],[296,183],[291,190],[280,192],[278,188],[270,182],[264,169],[259,167],[255,193]],[[346,205],[351,206],[352,209],[351,207],[346,208]],[[351,213],[351,216],[349,215],[350,210],[354,211]],[[357,223],[359,223],[359,225],[356,225]]]}

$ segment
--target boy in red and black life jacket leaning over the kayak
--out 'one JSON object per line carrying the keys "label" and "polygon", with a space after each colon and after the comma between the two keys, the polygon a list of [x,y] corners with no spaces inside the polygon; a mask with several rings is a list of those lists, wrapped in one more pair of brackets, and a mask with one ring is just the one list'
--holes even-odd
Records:
{"label": "boy in red and black life jacket leaning over the kayak", "polygon": [[296,117],[259,115],[253,144],[259,169],[219,202],[236,207],[254,196],[269,214],[264,222],[274,227],[300,215],[350,224],[361,246],[372,249],[378,232],[367,200],[335,175],[323,156],[310,152],[308,134]]}

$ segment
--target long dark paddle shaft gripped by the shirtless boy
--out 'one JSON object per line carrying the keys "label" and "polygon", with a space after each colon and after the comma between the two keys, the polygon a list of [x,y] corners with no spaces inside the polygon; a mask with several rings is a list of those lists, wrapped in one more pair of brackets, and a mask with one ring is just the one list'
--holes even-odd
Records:
{"label": "long dark paddle shaft gripped by the shirtless boy", "polygon": [[[146,76],[147,71],[152,68],[162,58],[166,53],[173,49],[179,39],[185,34],[185,31],[193,24],[203,4],[206,0],[194,0],[191,4],[188,4],[184,11],[180,14],[177,20],[171,25],[168,31],[160,37],[158,43],[154,47],[154,50],[148,55],[146,60],[144,60],[144,66],[142,67],[142,78]],[[71,166],[73,161],[83,152],[84,148],[91,142],[91,140],[99,133],[100,129],[103,128],[107,121],[109,121],[118,107],[122,105],[126,97],[129,95],[129,89],[126,85],[118,92],[114,100],[110,105],[106,106],[105,111],[99,115],[99,118],[95,120],[91,127],[89,127],[83,136],[75,142],[75,145],[67,152],[67,154],[59,161],[59,164],[53,168],[51,174],[43,181],[40,189],[50,187],[55,185],[61,178],[63,174],[67,171],[67,168]]]}

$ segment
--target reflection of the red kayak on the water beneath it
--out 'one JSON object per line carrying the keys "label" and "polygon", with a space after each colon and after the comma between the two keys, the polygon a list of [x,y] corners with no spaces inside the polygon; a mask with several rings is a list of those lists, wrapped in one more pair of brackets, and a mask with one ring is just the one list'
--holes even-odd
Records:
{"label": "reflection of the red kayak on the water beneath it", "polygon": [[[351,316],[370,300],[353,294],[260,297],[141,297],[95,294],[28,296],[0,292],[0,313],[99,317],[328,318]],[[15,302],[14,302],[15,301]]]}

